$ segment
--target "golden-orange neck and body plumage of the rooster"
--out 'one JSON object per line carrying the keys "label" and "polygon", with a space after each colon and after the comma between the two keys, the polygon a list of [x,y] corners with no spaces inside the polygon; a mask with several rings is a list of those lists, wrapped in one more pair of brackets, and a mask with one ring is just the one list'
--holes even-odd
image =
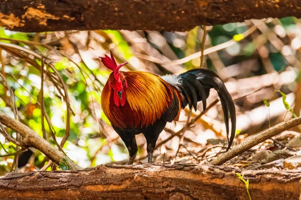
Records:
{"label": "golden-orange neck and body plumage of the rooster", "polygon": [[[178,91],[157,75],[143,71],[120,72],[128,85],[125,89],[125,104],[115,105],[113,90],[109,88],[108,82],[101,93],[101,106],[104,114],[112,125],[120,129],[142,128],[154,124],[168,109],[174,94],[181,99]],[[178,114],[174,120],[179,119],[180,111],[179,102]]]}

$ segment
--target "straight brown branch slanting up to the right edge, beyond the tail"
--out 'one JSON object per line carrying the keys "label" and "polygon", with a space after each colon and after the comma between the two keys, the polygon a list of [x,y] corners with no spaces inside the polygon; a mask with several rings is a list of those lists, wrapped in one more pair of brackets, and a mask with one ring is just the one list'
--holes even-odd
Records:
{"label": "straight brown branch slanting up to the right edge, beyond the tail", "polygon": [[269,138],[283,132],[284,130],[288,130],[289,128],[292,128],[299,124],[301,124],[301,117],[288,119],[281,123],[278,123],[277,125],[274,125],[273,127],[247,139],[246,141],[242,142],[241,144],[234,146],[229,151],[221,154],[215,160],[211,161],[210,164],[221,165],[221,164],[225,163],[226,161],[230,160],[231,158],[239,155],[240,153],[265,141],[266,139],[269,139]]}

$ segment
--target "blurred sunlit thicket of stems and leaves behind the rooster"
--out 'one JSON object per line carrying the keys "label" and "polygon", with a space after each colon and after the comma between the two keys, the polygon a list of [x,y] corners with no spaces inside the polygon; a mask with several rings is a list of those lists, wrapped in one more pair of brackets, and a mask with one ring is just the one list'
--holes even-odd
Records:
{"label": "blurred sunlit thicket of stems and leaves behind the rooster", "polygon": [[[0,27],[0,111],[31,127],[83,168],[126,164],[127,149],[101,110],[101,90],[110,71],[98,56],[112,50],[117,62],[129,62],[122,70],[177,74],[200,66],[203,35],[202,26],[188,32],[42,33]],[[234,99],[236,144],[293,117],[292,113],[299,115],[300,47],[301,20],[294,17],[207,26],[203,67],[220,75]],[[41,76],[43,71],[45,76]],[[283,94],[275,89],[284,93],[288,109]],[[207,105],[216,98],[212,90]],[[198,108],[191,118],[201,113],[202,106]],[[157,142],[154,162],[202,164],[225,150],[220,103],[182,131],[188,112],[182,111],[177,124],[167,124]],[[298,127],[294,130],[299,131]],[[9,128],[2,126],[1,131],[21,139]],[[146,163],[145,139],[143,135],[136,139],[135,163]],[[257,149],[267,146],[276,144],[267,141]],[[59,164],[49,162],[36,149],[19,150],[0,133],[0,175],[12,170],[53,169],[59,169]]]}

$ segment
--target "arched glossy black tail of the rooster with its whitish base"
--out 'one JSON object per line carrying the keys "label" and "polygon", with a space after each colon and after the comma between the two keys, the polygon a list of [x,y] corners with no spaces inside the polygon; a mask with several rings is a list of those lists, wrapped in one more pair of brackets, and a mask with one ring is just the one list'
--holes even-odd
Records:
{"label": "arched glossy black tail of the rooster with its whitish base", "polygon": [[[227,140],[229,150],[234,136],[235,136],[235,128],[236,128],[236,112],[235,105],[229,94],[224,82],[221,78],[213,71],[208,69],[192,69],[185,73],[176,75],[176,76],[163,76],[164,80],[174,85],[182,94],[182,108],[184,108],[187,104],[191,109],[197,109],[197,102],[202,100],[203,109],[206,109],[206,99],[209,96],[209,92],[211,88],[214,88],[221,100],[223,112],[224,112],[224,120],[226,125],[227,132]],[[229,117],[230,114],[230,117]],[[231,135],[229,138],[229,118],[231,119]]]}

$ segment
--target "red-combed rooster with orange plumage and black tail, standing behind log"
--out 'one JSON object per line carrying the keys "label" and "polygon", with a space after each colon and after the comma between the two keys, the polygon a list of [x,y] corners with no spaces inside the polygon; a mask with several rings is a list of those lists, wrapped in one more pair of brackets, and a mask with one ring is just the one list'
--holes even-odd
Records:
{"label": "red-combed rooster with orange plumage and black tail, standing behind log", "polygon": [[145,136],[148,163],[152,162],[157,139],[166,123],[179,120],[181,108],[187,104],[196,110],[197,102],[202,100],[205,110],[210,88],[216,89],[221,99],[227,138],[230,112],[230,148],[235,135],[235,107],[225,84],[215,72],[198,68],[159,77],[143,71],[119,71],[127,62],[117,65],[112,52],[111,57],[100,58],[113,71],[101,93],[102,110],[128,149],[128,164],[132,164],[136,156],[136,134]]}

